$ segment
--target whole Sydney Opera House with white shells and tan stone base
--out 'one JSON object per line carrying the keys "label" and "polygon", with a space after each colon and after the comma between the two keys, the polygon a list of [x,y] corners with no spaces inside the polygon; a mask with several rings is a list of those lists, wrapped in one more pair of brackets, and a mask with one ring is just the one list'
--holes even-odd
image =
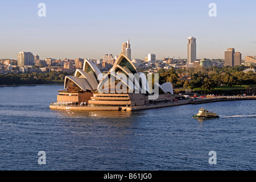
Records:
{"label": "whole Sydney Opera House with white shells and tan stone base", "polygon": [[[136,110],[171,104],[171,82],[159,85],[149,75],[138,72],[121,53],[108,73],[101,73],[92,61],[84,61],[74,76],[66,76],[64,89],[58,90],[51,109],[62,110]],[[152,82],[154,82],[152,84]]]}

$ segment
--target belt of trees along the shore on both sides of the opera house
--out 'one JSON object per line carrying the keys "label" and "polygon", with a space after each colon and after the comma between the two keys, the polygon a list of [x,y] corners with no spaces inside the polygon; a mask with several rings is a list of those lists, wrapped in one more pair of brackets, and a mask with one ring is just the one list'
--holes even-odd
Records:
{"label": "belt of trees along the shore on both sides of the opera house", "polygon": [[[171,82],[174,88],[195,89],[201,88],[205,93],[210,93],[214,86],[220,85],[256,85],[256,74],[252,71],[244,73],[249,67],[244,65],[236,67],[210,67],[210,68],[179,68],[164,70],[160,69],[159,84]],[[255,69],[254,66],[252,68]],[[190,79],[181,78],[182,74],[187,73]],[[63,84],[67,75],[74,73],[49,72],[49,73],[22,73],[19,75],[0,74],[0,85],[31,85],[31,84]],[[154,77],[153,77],[154,78]],[[154,81],[153,81],[154,82]]]}

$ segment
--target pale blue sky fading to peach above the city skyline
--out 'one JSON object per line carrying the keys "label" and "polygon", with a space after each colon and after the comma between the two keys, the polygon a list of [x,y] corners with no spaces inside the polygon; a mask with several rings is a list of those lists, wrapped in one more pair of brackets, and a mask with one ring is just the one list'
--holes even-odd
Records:
{"label": "pale blue sky fading to peach above the city skyline", "polygon": [[[46,4],[46,17],[38,4]],[[217,17],[210,17],[216,3]],[[256,1],[1,1],[0,58],[19,51],[40,59],[99,59],[118,55],[130,39],[132,57],[148,53],[187,58],[187,38],[197,38],[197,59],[224,59],[233,47],[256,55]]]}

